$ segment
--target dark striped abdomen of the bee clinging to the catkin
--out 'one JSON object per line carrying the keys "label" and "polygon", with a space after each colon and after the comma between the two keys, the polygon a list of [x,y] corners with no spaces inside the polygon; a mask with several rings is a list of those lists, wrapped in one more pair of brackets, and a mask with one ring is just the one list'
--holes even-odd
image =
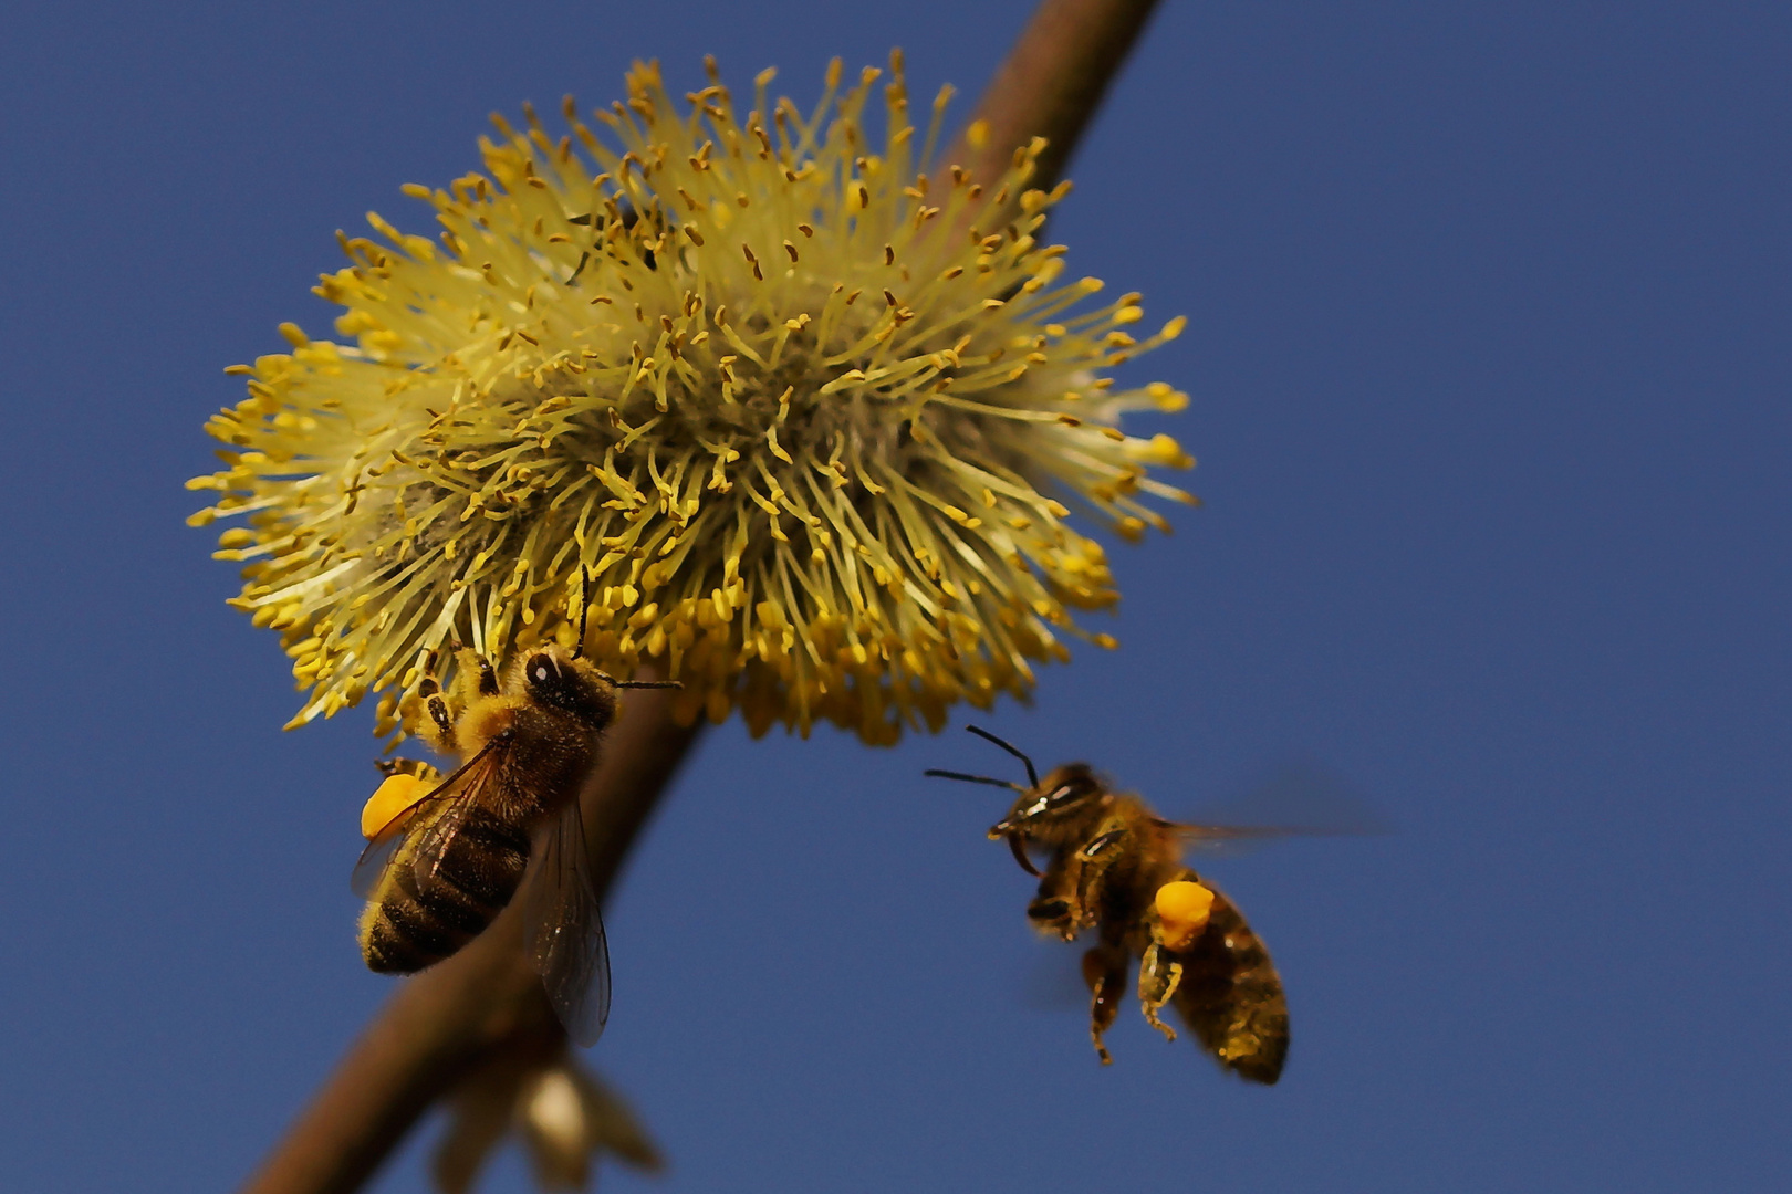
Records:
{"label": "dark striped abdomen of the bee clinging to the catkin", "polygon": [[529,865],[529,834],[482,807],[468,809],[428,877],[412,865],[412,832],[360,922],[360,952],[382,974],[412,974],[478,936],[511,902]]}

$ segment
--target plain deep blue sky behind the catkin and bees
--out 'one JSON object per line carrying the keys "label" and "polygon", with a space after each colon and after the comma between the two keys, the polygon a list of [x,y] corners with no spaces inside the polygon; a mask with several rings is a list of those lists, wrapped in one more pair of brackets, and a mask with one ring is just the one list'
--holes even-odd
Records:
{"label": "plain deep blue sky behind the catkin and bees", "polygon": [[[9,7],[0,1187],[235,1185],[391,990],[346,886],[369,718],[280,732],[276,639],[183,526],[220,369],[323,331],[333,231],[428,231],[401,183],[636,55],[806,102],[901,45],[975,95],[1027,9]],[[1287,1074],[1133,1011],[1102,1069],[1041,1006],[1075,951],[1030,940],[1000,793],[921,779],[993,748],[728,725],[607,913],[591,1062],[672,1171],[606,1189],[1783,1180],[1788,61],[1783,4],[1170,0],[1054,236],[1190,317],[1133,376],[1193,394],[1208,507],[1116,548],[1120,652],[987,723],[1168,814],[1290,755],[1373,797],[1396,832],[1211,870]]]}

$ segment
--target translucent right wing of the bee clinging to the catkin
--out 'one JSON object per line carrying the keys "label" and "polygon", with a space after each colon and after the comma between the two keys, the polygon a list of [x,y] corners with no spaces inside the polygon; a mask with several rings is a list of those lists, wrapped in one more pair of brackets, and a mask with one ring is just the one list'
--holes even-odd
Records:
{"label": "translucent right wing of the bee clinging to the catkin", "polygon": [[609,1019],[609,943],[584,845],[579,798],[543,832],[529,883],[529,956],[566,1035],[597,1044]]}

